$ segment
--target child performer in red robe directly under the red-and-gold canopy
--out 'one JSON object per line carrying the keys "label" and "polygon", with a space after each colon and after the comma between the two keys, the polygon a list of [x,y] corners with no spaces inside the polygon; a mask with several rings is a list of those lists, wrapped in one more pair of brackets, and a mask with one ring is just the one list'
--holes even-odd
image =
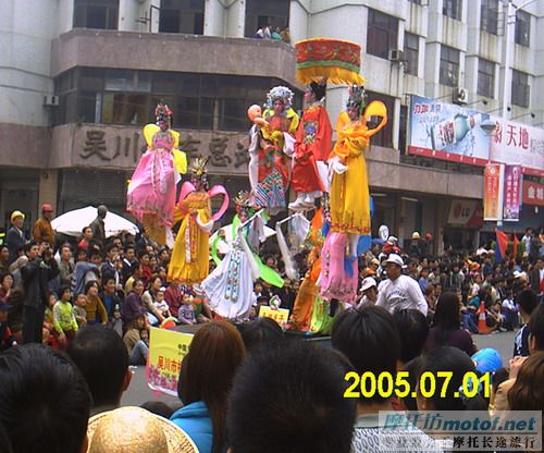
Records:
{"label": "child performer in red robe directly under the red-and-gold canopy", "polygon": [[323,106],[326,82],[308,85],[305,100],[309,107],[304,111],[298,126],[292,186],[297,199],[289,209],[305,210],[313,207],[316,198],[327,191],[326,160],[331,152],[332,126]]}

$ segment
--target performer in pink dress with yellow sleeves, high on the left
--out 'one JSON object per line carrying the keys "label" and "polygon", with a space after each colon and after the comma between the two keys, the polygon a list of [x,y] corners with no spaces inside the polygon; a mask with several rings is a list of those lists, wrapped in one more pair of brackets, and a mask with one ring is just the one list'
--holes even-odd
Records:
{"label": "performer in pink dress with yellow sleeves, high on the left", "polygon": [[149,237],[166,244],[166,230],[174,222],[176,183],[187,172],[185,152],[177,149],[180,134],[170,128],[172,110],[159,103],[157,124],[144,126],[147,151],[134,171],[126,197],[126,210],[144,224]]}

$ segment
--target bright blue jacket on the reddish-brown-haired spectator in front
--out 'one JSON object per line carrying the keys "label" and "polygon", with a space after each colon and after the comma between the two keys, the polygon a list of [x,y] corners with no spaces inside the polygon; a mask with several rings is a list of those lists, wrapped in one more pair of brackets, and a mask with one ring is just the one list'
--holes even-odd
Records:
{"label": "bright blue jacket on the reddish-brown-haired spectator in front", "polygon": [[203,401],[187,404],[176,411],[170,420],[182,428],[195,442],[200,453],[211,453],[213,430],[210,413]]}

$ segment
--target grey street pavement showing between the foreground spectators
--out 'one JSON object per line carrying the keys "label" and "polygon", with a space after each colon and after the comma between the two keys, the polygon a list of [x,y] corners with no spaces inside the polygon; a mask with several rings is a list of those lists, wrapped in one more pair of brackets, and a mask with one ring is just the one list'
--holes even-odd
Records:
{"label": "grey street pavement showing between the foreground spectators", "polygon": [[[479,350],[493,347],[500,353],[503,365],[508,366],[508,360],[512,356],[515,332],[502,332],[489,335],[472,335]],[[146,401],[162,401],[172,407],[181,406],[175,396],[169,396],[160,392],[154,392],[147,385],[145,367],[134,367],[134,376],[128,390],[123,394],[121,404],[131,406],[145,403]]]}

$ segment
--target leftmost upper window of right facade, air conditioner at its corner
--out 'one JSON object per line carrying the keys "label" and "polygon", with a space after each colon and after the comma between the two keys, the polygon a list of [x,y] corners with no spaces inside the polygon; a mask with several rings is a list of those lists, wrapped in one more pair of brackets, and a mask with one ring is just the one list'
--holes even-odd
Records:
{"label": "leftmost upper window of right facade, air conditioner at its corner", "polygon": [[390,50],[397,49],[398,19],[369,10],[367,52],[387,59]]}

